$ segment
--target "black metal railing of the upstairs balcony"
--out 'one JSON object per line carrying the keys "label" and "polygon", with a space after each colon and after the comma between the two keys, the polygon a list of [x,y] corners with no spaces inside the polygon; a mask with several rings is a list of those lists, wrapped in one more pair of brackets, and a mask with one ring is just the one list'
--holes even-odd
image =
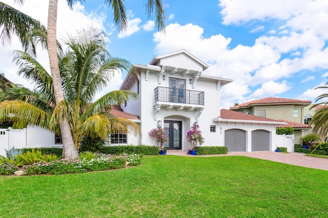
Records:
{"label": "black metal railing of the upstairs balcony", "polygon": [[157,87],[155,102],[173,102],[182,104],[204,105],[204,92],[187,89]]}

